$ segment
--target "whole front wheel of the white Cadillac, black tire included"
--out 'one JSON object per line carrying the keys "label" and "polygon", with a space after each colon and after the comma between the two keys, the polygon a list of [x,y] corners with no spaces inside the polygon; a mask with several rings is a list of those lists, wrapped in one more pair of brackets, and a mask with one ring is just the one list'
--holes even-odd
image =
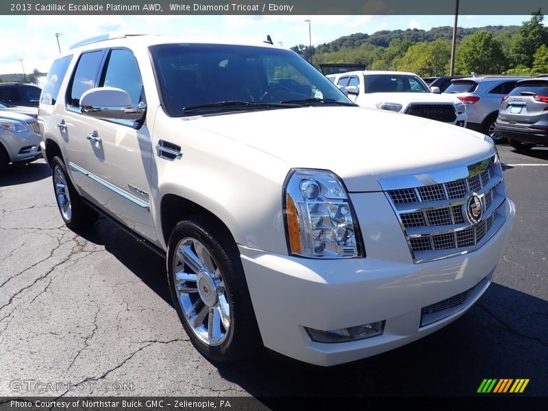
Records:
{"label": "whole front wheel of the white Cadillac, black tire included", "polygon": [[167,272],[179,320],[204,357],[236,362],[262,347],[232,236],[199,219],[179,222],[168,242]]}

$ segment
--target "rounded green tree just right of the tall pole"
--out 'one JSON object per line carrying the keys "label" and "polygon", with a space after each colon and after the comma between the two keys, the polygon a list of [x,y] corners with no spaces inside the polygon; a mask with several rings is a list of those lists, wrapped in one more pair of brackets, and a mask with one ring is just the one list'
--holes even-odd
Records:
{"label": "rounded green tree just right of the tall pole", "polygon": [[499,74],[506,69],[506,58],[493,34],[479,30],[464,38],[457,49],[456,71],[460,74]]}

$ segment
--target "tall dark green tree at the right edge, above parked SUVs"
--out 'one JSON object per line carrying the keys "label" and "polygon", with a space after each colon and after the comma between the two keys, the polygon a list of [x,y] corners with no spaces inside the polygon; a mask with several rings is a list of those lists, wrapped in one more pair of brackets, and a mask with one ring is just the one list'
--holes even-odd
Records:
{"label": "tall dark green tree at the right edge, above parked SUVs", "polygon": [[538,10],[533,13],[530,21],[526,21],[519,28],[512,44],[510,57],[514,65],[531,67],[533,55],[543,44],[548,43],[548,27],[543,25],[544,16]]}

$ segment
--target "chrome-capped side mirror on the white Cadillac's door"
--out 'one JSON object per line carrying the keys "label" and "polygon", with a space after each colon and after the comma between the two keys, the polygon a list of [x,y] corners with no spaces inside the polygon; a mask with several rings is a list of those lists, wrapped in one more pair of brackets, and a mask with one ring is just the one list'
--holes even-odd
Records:
{"label": "chrome-capped side mirror on the white Cadillac's door", "polygon": [[131,97],[121,88],[92,88],[80,97],[80,112],[90,117],[140,121],[146,111],[146,104],[132,105]]}

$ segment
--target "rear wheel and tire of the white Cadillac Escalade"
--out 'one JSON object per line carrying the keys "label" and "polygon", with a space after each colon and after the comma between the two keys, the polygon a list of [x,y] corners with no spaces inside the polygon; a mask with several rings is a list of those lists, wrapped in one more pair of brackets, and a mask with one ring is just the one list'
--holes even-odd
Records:
{"label": "rear wheel and tire of the white Cadillac Escalade", "polygon": [[66,227],[82,229],[95,223],[97,213],[86,206],[76,192],[62,158],[53,158],[51,170],[55,201]]}

